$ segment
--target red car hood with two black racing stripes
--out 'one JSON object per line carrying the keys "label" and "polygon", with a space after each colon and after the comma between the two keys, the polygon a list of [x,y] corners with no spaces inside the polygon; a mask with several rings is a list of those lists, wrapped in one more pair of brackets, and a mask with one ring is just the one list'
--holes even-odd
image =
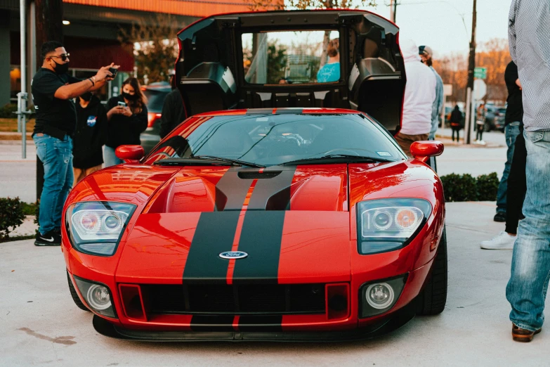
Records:
{"label": "red car hood with two black racing stripes", "polygon": [[349,220],[346,164],[185,167],[137,219],[117,281],[348,281]]}

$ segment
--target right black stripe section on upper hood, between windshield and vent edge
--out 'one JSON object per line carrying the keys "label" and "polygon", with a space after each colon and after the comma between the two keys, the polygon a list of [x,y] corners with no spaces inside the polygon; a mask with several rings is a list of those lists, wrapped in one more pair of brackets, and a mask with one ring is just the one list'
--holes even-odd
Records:
{"label": "right black stripe section on upper hood, between windshield and vent edge", "polygon": [[[263,171],[269,172],[268,169]],[[285,169],[272,179],[258,179],[248,204],[248,210],[288,210],[290,185],[296,166]]]}

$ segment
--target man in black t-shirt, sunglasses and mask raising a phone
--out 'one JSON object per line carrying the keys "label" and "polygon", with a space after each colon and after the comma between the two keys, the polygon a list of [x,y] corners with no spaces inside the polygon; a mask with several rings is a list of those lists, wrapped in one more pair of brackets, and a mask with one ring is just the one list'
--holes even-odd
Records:
{"label": "man in black t-shirt, sunglasses and mask raising a phone", "polygon": [[111,64],[93,77],[80,80],[67,74],[69,53],[63,44],[48,41],[41,47],[42,67],[32,78],[31,91],[36,123],[32,138],[44,164],[44,188],[40,197],[39,233],[34,245],[60,245],[61,212],[72,186],[72,135],[77,112],[72,98],[94,91],[112,79]]}

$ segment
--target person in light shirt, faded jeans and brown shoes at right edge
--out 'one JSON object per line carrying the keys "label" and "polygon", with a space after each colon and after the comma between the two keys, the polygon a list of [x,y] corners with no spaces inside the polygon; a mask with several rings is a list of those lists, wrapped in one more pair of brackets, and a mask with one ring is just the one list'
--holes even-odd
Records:
{"label": "person in light shirt, faded jeans and brown shoes at right edge", "polygon": [[512,60],[523,92],[527,193],[506,285],[512,339],[530,342],[544,323],[550,280],[550,4],[513,0],[508,22]]}

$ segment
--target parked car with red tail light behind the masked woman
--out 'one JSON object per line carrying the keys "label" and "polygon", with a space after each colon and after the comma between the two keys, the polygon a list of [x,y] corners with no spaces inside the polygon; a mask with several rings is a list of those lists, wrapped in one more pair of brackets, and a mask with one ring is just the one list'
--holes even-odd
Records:
{"label": "parked car with red tail light behind the masked woman", "polygon": [[160,141],[159,131],[162,105],[164,105],[164,98],[166,98],[172,89],[168,82],[155,82],[143,86],[142,90],[148,99],[148,124],[140,139],[141,146],[148,153]]}

